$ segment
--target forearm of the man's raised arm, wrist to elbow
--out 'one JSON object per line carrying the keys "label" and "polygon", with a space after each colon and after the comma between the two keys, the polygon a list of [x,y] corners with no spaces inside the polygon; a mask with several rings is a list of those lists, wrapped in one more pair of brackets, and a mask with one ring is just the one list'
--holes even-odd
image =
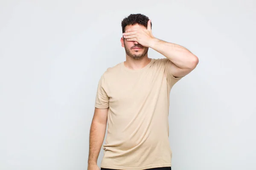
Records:
{"label": "forearm of the man's raised arm, wrist to elbow", "polygon": [[149,47],[163,54],[179,68],[193,68],[198,62],[198,57],[181,45],[154,38]]}

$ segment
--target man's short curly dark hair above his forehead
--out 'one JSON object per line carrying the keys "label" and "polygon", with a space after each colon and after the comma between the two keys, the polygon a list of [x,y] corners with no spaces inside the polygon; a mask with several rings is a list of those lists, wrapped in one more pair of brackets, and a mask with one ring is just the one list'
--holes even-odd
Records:
{"label": "man's short curly dark hair above his forehead", "polygon": [[[139,24],[141,26],[148,27],[149,18],[143,14],[130,14],[128,17],[122,20],[122,33],[125,32],[125,27],[129,25]],[[151,23],[152,28],[152,23]]]}

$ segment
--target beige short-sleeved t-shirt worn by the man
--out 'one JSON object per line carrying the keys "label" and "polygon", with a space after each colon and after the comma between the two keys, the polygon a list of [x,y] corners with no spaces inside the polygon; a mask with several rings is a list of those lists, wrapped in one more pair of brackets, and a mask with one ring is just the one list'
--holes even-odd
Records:
{"label": "beige short-sleeved t-shirt worn by the man", "polygon": [[172,166],[169,94],[181,77],[172,76],[171,65],[167,58],[151,59],[134,71],[121,62],[102,75],[95,107],[109,109],[101,167],[143,170]]}

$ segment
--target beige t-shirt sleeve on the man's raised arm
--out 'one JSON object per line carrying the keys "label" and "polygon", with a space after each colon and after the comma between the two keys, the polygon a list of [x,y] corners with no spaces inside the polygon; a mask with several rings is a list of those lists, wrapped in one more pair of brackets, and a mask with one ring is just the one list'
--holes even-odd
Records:
{"label": "beige t-shirt sleeve on the man's raised arm", "polygon": [[164,67],[164,70],[165,70],[167,82],[170,85],[170,87],[172,87],[173,85],[175,85],[176,82],[178,82],[183,77],[174,77],[172,75],[172,65],[174,63],[171,62],[171,60],[169,60],[167,58],[164,58],[164,59],[161,59],[161,60],[163,62],[163,67]]}

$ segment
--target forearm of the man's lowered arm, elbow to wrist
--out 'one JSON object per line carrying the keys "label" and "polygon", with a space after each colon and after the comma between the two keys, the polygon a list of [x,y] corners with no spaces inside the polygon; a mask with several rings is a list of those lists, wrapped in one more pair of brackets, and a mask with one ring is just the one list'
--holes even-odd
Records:
{"label": "forearm of the man's lowered arm, elbow to wrist", "polygon": [[95,120],[92,121],[90,127],[88,164],[97,164],[99,152],[105,137],[106,126],[106,124],[99,123]]}

